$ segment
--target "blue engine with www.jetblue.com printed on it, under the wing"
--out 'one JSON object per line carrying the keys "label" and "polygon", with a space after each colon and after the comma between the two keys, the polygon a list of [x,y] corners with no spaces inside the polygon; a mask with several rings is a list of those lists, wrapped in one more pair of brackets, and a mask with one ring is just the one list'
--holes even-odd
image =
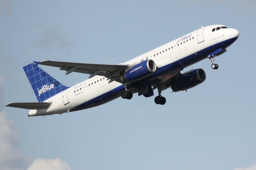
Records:
{"label": "blue engine with www.jetblue.com printed on it, under the wing", "polygon": [[155,71],[155,62],[153,60],[146,60],[124,72],[121,78],[123,82],[133,82],[146,78],[153,74]]}

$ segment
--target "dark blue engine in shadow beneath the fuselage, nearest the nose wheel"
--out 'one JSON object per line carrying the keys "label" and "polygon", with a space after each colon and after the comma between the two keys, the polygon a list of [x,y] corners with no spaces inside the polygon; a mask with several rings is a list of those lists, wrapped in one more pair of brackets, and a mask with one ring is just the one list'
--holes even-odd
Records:
{"label": "dark blue engine in shadow beneath the fuselage, nearest the nose wheel", "polygon": [[206,74],[202,68],[196,70],[190,70],[182,75],[174,78],[171,82],[171,88],[174,92],[187,90],[198,84],[201,84],[206,79]]}

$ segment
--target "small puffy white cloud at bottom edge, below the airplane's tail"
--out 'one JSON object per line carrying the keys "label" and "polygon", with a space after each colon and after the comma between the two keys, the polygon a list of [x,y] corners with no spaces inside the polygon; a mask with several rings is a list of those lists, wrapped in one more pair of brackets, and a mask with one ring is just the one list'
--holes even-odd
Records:
{"label": "small puffy white cloud at bottom edge, below the airplane's tail", "polygon": [[70,165],[64,160],[57,159],[42,159],[34,160],[28,170],[71,170]]}

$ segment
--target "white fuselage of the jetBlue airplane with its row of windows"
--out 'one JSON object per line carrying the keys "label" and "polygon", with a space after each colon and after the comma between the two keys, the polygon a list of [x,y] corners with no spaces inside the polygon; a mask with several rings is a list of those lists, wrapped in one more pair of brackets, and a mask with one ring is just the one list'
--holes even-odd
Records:
{"label": "white fuselage of the jetBlue airplane with its row of windows", "polygon": [[[228,47],[233,42],[228,42],[228,40],[233,40],[234,38],[238,37],[238,31],[232,28],[220,29],[212,32],[212,29],[218,26],[223,25],[212,25],[200,28],[122,64],[130,65],[140,62],[141,60],[151,59],[154,60],[157,68],[159,69],[179,60],[185,60],[186,57],[190,56],[188,62],[185,65],[182,65],[182,68],[180,68],[180,70],[182,70],[195,62],[207,58],[205,53],[204,56],[200,56],[200,53],[197,54],[198,52],[202,52],[203,50],[205,50],[204,52],[207,52],[208,49],[214,50],[217,48],[218,44],[221,44],[222,42],[229,43],[224,44],[226,47]],[[191,59],[191,56],[194,59]],[[164,73],[158,75],[158,77],[159,76],[164,78]],[[122,86],[122,84],[119,82],[114,81],[108,83],[108,81],[109,80],[107,80],[107,78],[104,76],[94,76],[88,80],[84,80],[83,82],[80,82],[46,100],[45,102],[52,102],[49,108],[30,110],[28,114],[29,116],[62,114],[64,112],[104,104],[119,97],[120,95],[113,95],[112,90]],[[90,102],[87,103],[88,101]],[[80,108],[75,109],[78,106],[80,106]]]}

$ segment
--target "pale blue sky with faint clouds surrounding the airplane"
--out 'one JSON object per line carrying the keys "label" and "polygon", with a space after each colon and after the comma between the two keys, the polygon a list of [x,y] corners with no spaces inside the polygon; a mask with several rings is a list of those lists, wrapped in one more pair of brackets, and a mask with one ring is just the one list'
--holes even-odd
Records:
{"label": "pale blue sky with faint clouds surrounding the airplane", "polygon": [[[0,167],[255,170],[255,7],[253,0],[0,0]],[[165,90],[164,106],[134,95],[44,117],[3,107],[37,102],[22,70],[32,61],[118,64],[212,24],[236,28],[238,40],[216,58],[218,70],[209,60],[186,68],[203,68],[206,81],[186,93]],[[42,68],[66,86],[88,78]],[[49,168],[54,162],[60,166]]]}

